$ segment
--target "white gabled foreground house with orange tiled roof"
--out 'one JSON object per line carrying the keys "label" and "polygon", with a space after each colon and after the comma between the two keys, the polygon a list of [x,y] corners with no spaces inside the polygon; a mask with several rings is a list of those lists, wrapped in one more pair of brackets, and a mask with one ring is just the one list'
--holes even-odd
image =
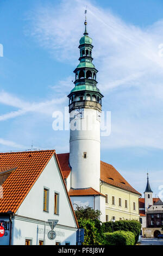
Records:
{"label": "white gabled foreground house with orange tiled roof", "polygon": [[[76,245],[78,223],[55,150],[0,154],[0,245]],[[58,220],[48,239],[48,220]]]}

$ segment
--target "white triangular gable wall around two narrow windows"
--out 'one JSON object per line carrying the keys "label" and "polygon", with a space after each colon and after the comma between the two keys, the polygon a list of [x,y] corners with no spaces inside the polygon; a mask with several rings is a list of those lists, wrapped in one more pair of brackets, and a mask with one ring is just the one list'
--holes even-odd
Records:
{"label": "white triangular gable wall around two narrow windows", "polygon": [[[49,212],[43,211],[44,186],[49,188]],[[59,215],[54,215],[54,192],[59,192]],[[76,227],[64,183],[61,180],[54,156],[52,156],[39,179],[37,179],[29,191],[16,214],[43,221],[57,219],[59,220],[58,224]]]}

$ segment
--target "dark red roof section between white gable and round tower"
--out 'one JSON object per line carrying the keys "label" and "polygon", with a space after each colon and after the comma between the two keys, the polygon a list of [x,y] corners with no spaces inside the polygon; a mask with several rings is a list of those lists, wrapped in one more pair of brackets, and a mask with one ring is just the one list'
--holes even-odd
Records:
{"label": "dark red roof section between white gable and round tower", "polygon": [[62,171],[62,174],[64,176],[64,179],[67,179],[70,172],[71,172],[71,168],[68,164],[69,161],[69,153],[65,153],[65,154],[57,154],[59,163],[60,163],[60,168]]}

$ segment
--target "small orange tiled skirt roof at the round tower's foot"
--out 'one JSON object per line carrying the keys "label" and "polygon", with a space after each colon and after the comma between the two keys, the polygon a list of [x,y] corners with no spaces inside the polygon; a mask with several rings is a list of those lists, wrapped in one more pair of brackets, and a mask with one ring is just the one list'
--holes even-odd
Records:
{"label": "small orange tiled skirt roof at the round tower's foot", "polygon": [[87,187],[87,188],[80,188],[80,189],[75,189],[75,188],[70,188],[69,190],[69,196],[104,196],[104,194],[99,193],[97,190],[94,190],[92,187]]}

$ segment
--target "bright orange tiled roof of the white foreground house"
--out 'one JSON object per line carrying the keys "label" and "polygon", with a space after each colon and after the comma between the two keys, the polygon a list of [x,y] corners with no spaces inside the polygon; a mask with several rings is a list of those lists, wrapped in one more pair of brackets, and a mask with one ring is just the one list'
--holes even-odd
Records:
{"label": "bright orange tiled roof of the white foreground house", "polygon": [[[2,185],[3,198],[0,198],[0,212],[6,213],[8,211],[12,211],[16,213],[24,198],[27,196],[28,192],[35,184],[36,180],[39,178],[43,169],[46,167],[53,155],[57,160],[61,178],[68,194],[55,150],[0,153],[1,172],[9,170],[11,167],[15,167],[14,172],[11,172],[7,180],[5,180]],[[78,227],[77,218],[74,214],[69,196],[68,200]]]}

